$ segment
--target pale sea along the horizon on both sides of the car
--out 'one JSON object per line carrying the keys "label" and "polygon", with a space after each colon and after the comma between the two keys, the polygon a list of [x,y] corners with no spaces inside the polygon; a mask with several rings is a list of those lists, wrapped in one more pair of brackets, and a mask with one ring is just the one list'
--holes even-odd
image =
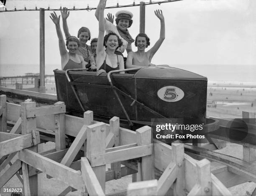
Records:
{"label": "pale sea along the horizon on both sides of the car", "polygon": [[[256,65],[169,65],[192,71],[207,77],[208,81],[256,84]],[[0,64],[0,77],[23,76],[26,73],[39,73],[39,64]],[[45,74],[53,75],[60,64],[46,64]]]}

